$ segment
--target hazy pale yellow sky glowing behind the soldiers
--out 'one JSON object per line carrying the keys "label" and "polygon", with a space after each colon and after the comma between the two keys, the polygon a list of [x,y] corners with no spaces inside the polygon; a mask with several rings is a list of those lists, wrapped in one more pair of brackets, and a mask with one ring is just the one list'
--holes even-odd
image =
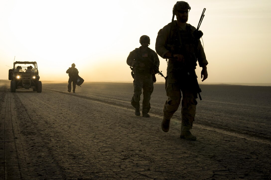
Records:
{"label": "hazy pale yellow sky glowing behind the soldiers", "polygon": [[[270,0],[191,0],[188,23],[200,30],[209,62],[204,82],[270,83]],[[85,81],[132,81],[126,64],[141,35],[155,50],[176,0],[0,0],[0,79],[15,61],[37,61],[40,80],[67,81],[76,64]],[[176,19],[176,17],[175,17]],[[160,58],[160,56],[159,56]],[[166,61],[160,70],[166,75]],[[197,66],[200,78],[201,68]],[[163,81],[159,75],[157,81]]]}

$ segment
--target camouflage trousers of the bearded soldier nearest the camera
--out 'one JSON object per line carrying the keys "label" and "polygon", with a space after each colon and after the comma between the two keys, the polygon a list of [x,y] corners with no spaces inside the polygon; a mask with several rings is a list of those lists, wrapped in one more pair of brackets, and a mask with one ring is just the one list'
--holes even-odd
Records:
{"label": "camouflage trousers of the bearded soldier nearest the camera", "polygon": [[[172,75],[166,77],[166,100],[163,113],[166,119],[171,119],[173,114],[178,110],[182,98],[182,125],[181,131],[192,129],[196,115],[197,94],[186,87],[182,87]],[[181,94],[182,93],[182,94]]]}

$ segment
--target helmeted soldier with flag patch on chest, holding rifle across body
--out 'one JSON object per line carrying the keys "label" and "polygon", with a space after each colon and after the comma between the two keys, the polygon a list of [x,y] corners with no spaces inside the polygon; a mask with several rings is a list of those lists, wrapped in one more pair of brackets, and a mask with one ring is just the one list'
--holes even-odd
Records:
{"label": "helmeted soldier with flag patch on chest, holding rifle across body", "polygon": [[134,75],[134,96],[131,105],[135,108],[135,115],[140,116],[139,101],[143,89],[142,116],[150,117],[148,114],[151,108],[150,99],[153,92],[153,82],[156,81],[153,80],[153,76],[156,74],[154,69],[159,68],[160,62],[156,52],[148,47],[150,45],[149,36],[141,36],[139,42],[141,46],[131,51],[127,58],[127,64],[133,67],[132,73]]}

